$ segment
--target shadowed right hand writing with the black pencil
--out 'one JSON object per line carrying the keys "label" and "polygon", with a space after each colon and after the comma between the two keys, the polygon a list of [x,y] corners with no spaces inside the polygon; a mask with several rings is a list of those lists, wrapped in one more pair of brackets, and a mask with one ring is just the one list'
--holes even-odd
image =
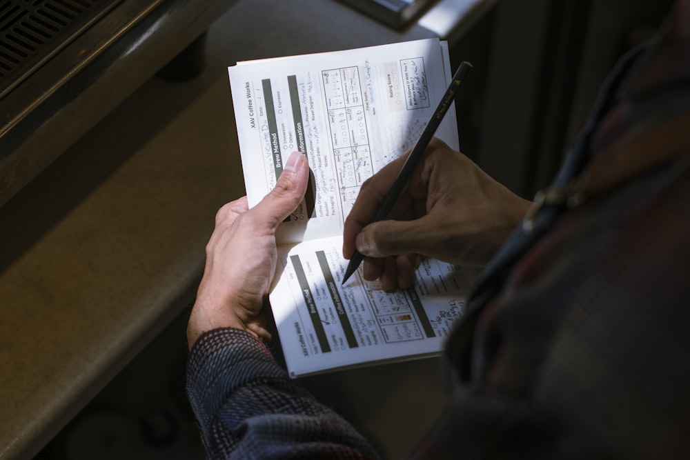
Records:
{"label": "shadowed right hand writing with the black pencil", "polygon": [[344,257],[355,248],[361,252],[364,279],[380,279],[384,290],[412,286],[417,254],[485,266],[530,206],[435,138],[388,220],[371,223],[404,160],[392,161],[362,185],[344,226]]}

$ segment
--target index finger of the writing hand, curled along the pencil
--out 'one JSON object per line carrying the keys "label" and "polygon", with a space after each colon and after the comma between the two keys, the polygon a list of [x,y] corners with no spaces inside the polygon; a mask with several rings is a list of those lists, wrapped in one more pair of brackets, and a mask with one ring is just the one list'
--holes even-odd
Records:
{"label": "index finger of the writing hand, curled along the pencil", "polygon": [[355,204],[345,219],[343,228],[343,256],[350,259],[355,252],[355,237],[368,226],[376,215],[381,201],[386,197],[398,172],[402,168],[406,155],[391,161],[379,172],[366,179],[359,189]]}

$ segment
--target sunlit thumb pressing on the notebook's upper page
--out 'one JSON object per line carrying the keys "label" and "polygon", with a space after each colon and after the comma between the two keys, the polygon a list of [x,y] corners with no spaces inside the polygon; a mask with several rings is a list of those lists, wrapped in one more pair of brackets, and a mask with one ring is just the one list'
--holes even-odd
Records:
{"label": "sunlit thumb pressing on the notebook's upper page", "polygon": [[259,201],[255,210],[273,217],[273,226],[277,226],[302,202],[308,181],[309,166],[306,157],[302,153],[292,152],[275,187]]}

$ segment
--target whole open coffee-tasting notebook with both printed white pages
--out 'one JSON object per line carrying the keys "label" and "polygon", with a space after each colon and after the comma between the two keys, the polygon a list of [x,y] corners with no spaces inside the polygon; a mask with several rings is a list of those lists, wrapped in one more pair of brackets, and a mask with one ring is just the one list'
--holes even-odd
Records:
{"label": "whole open coffee-tasting notebook with both printed white pages", "polygon": [[[293,377],[442,350],[464,308],[466,272],[424,260],[391,294],[361,272],[341,286],[342,230],[362,183],[412,148],[451,80],[445,43],[264,59],[228,69],[250,206],[303,152],[312,183],[277,232],[270,303]],[[458,148],[455,110],[436,132]]]}

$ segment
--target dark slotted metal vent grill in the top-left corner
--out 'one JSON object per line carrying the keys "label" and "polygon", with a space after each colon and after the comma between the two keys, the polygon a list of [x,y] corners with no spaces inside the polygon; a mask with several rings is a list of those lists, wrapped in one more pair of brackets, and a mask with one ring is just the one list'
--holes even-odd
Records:
{"label": "dark slotted metal vent grill in the top-left corner", "polygon": [[0,99],[121,0],[0,0]]}

